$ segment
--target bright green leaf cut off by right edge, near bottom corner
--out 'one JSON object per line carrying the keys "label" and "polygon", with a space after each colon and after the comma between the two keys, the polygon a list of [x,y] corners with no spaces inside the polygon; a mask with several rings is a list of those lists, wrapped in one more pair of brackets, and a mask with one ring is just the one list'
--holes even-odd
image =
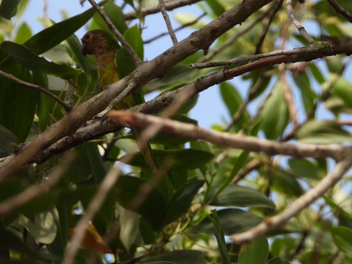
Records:
{"label": "bright green leaf cut off by right edge, near bottom corner", "polygon": [[332,239],[339,250],[352,258],[352,229],[345,226],[331,227]]}

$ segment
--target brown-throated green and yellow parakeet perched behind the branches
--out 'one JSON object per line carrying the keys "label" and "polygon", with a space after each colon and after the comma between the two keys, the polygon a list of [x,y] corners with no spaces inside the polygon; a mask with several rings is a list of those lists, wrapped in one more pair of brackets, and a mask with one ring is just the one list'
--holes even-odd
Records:
{"label": "brown-throated green and yellow parakeet perched behind the branches", "polygon": [[[111,83],[119,81],[121,78],[130,74],[136,66],[125,49],[122,49],[117,40],[107,31],[96,29],[88,31],[81,38],[82,54],[84,56],[94,55],[98,65],[98,79],[101,89]],[[145,102],[142,88],[136,92],[127,95],[122,99],[115,108],[124,109]],[[151,167],[154,173],[158,174],[158,167],[155,162],[149,140],[146,139],[144,131],[132,128],[134,138],[138,144],[145,161]],[[141,139],[142,138],[142,139]]]}

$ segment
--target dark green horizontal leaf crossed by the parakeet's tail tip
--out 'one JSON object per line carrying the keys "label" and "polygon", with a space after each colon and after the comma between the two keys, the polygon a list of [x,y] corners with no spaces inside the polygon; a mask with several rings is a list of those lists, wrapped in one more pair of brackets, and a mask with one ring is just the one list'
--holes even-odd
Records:
{"label": "dark green horizontal leaf crossed by the parakeet's tail tip", "polygon": [[[214,158],[214,154],[195,149],[178,150],[153,150],[153,155],[157,164],[168,164],[170,170],[192,170],[209,162]],[[127,164],[149,168],[140,152],[128,153],[120,160],[128,160]]]}

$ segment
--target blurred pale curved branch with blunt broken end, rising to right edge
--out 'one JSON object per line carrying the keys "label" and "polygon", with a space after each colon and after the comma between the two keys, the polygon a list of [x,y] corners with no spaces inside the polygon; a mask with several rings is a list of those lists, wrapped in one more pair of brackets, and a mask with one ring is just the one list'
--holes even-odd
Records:
{"label": "blurred pale curved branch with blunt broken end, rising to right edge", "polygon": [[314,188],[298,197],[298,199],[292,202],[289,207],[283,210],[283,212],[266,219],[264,222],[248,231],[232,235],[231,240],[235,243],[243,243],[256,239],[260,235],[266,234],[272,230],[284,227],[292,217],[312,204],[341,179],[352,165],[350,155],[351,149],[348,150],[348,153],[346,151],[346,156],[335,165],[334,169],[326,177],[324,177]]}

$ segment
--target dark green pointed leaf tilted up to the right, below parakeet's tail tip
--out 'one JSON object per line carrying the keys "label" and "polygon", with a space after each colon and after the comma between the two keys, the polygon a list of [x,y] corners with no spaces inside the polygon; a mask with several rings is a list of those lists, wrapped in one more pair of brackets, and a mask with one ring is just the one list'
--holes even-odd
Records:
{"label": "dark green pointed leaf tilted up to the right, below parakeet's tail tip", "polygon": [[178,189],[176,193],[171,196],[166,206],[161,226],[166,226],[185,214],[189,209],[194,196],[203,184],[204,181],[191,181]]}

